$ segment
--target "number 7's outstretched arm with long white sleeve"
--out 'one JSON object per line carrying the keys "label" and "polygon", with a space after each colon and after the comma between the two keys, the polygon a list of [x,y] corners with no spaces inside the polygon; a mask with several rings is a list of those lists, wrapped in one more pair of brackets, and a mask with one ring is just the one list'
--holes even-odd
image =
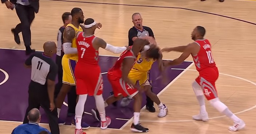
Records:
{"label": "number 7's outstretched arm with long white sleeve", "polygon": [[114,54],[120,54],[123,53],[125,50],[128,50],[128,46],[123,46],[123,47],[117,47],[117,46],[112,46],[108,43],[106,43],[103,39],[95,37],[93,40],[93,47],[94,49],[98,50],[99,47],[111,51]]}

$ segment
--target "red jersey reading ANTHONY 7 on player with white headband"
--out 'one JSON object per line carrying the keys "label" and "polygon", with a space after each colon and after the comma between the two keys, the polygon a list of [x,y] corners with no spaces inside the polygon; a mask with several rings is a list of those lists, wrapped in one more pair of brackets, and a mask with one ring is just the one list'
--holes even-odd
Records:
{"label": "red jersey reading ANTHONY 7 on player with white headband", "polygon": [[83,64],[98,65],[99,50],[92,46],[94,35],[84,37],[83,32],[79,33],[76,38],[78,62]]}

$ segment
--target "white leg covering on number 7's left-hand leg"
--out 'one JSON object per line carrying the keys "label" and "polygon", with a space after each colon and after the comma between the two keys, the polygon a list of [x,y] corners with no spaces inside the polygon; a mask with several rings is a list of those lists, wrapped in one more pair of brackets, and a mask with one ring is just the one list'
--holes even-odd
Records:
{"label": "white leg covering on number 7's left-hand leg", "polygon": [[75,120],[76,120],[76,129],[80,130],[82,129],[81,122],[82,122],[82,116],[84,113],[84,104],[86,102],[87,95],[79,95],[78,101],[76,104],[76,115],[75,115]]}

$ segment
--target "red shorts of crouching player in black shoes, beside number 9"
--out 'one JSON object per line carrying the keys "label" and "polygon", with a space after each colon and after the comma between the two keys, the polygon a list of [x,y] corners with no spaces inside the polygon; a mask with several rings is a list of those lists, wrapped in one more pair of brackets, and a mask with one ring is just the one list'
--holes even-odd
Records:
{"label": "red shorts of crouching player in black shoes, beside number 9", "polygon": [[126,83],[122,79],[116,78],[116,76],[108,75],[108,80],[112,86],[115,97],[123,95],[123,97],[129,96],[132,98],[139,92],[132,85]]}

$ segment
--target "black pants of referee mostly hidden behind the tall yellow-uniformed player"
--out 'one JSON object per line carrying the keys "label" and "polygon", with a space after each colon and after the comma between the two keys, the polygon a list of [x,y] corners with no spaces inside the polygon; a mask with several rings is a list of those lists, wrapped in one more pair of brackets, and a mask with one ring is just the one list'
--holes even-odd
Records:
{"label": "black pants of referee mostly hidden behind the tall yellow-uniformed player", "polygon": [[[64,53],[61,53],[61,56],[56,55],[56,64],[58,65],[58,83],[55,85],[55,93],[54,93],[54,98],[56,99],[59,92],[60,88],[62,87],[62,76],[63,76],[63,69],[62,69],[62,64],[61,60],[63,57]],[[71,91],[68,92],[68,113],[73,113],[75,114],[75,109],[76,109],[76,86],[72,86]]]}

